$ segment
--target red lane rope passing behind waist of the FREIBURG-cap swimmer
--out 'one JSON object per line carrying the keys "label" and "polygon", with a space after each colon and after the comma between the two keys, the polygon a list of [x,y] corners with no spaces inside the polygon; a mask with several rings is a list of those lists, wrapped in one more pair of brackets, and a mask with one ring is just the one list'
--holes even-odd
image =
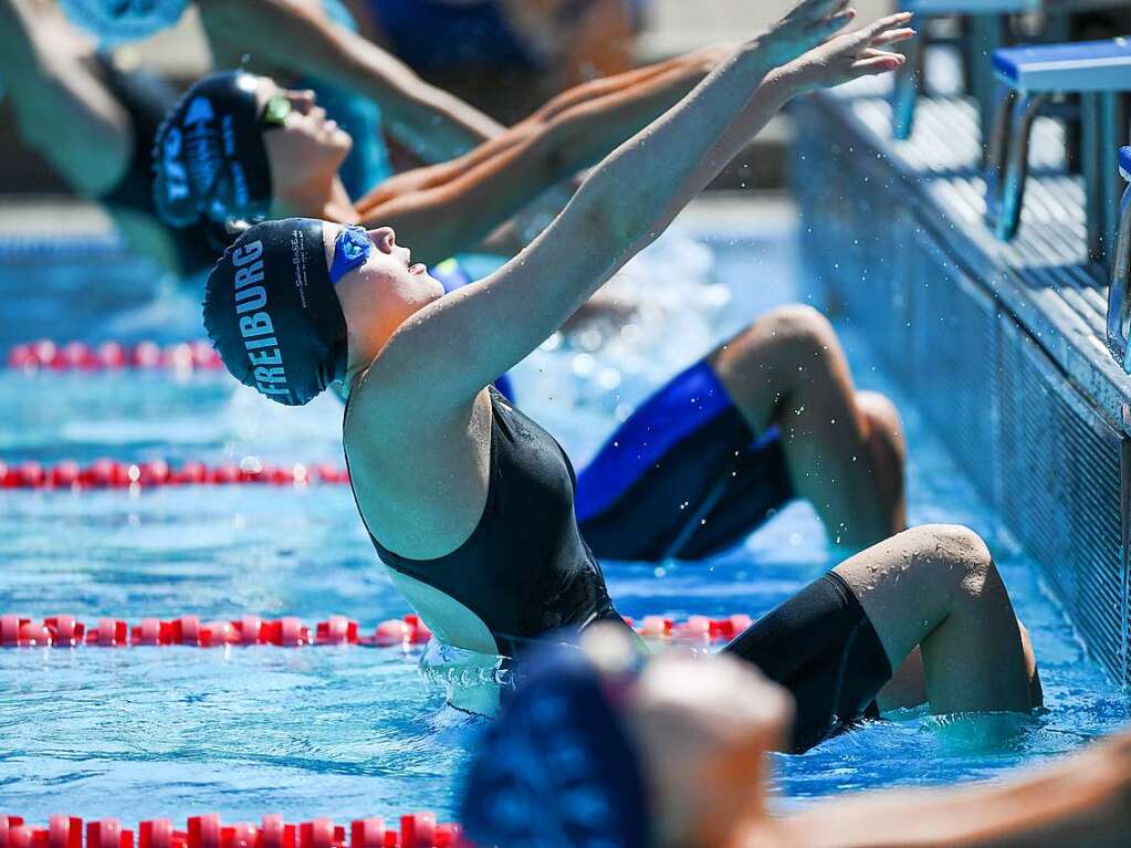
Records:
{"label": "red lane rope passing behind waist of the FREIBURG-cap swimmer", "polygon": [[[752,624],[749,615],[710,618],[692,615],[687,621],[675,621],[658,615],[647,615],[632,624],[645,639],[680,640],[690,642],[728,641]],[[264,620],[258,615],[242,615],[231,621],[205,621],[199,616],[182,615],[162,621],[143,618],[129,624],[121,618],[100,618],[89,625],[72,615],[53,615],[42,621],[15,614],[0,615],[0,647],[2,648],[154,648],[173,644],[196,648],[221,646],[273,644],[278,648],[318,646],[363,646],[374,648],[406,648],[425,644],[432,631],[416,615],[383,621],[369,634],[363,634],[357,622],[344,615],[331,615],[313,628],[299,618]],[[0,848],[5,846],[0,845]]]}

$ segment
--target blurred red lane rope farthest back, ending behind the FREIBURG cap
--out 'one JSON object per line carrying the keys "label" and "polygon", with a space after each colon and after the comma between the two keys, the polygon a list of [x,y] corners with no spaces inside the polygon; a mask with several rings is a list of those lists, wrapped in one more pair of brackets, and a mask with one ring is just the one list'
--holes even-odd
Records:
{"label": "blurred red lane rope farthest back, ending behind the FREIBURG cap", "polygon": [[169,370],[178,372],[219,371],[224,363],[219,354],[205,340],[181,341],[158,345],[155,341],[138,341],[122,345],[103,341],[87,345],[85,341],[57,344],[40,339],[16,345],[8,351],[5,360],[9,369],[28,374],[38,371],[135,371]]}

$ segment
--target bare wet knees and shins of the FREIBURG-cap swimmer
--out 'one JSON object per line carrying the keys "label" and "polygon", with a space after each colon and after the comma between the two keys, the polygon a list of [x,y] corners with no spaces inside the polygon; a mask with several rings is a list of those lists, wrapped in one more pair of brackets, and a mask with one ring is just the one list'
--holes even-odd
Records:
{"label": "bare wet knees and shins of the FREIBURG-cap swimmer", "polygon": [[965,527],[916,527],[835,569],[893,668],[916,646],[934,713],[1041,706],[1036,660],[985,543]]}

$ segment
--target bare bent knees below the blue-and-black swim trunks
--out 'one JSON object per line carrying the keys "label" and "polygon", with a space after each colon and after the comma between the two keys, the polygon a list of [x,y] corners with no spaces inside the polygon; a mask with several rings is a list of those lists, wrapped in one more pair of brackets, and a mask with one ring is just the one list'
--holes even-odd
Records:
{"label": "bare bent knees below the blue-and-black swim trunks", "polygon": [[882,395],[854,389],[836,332],[819,312],[774,310],[710,362],[756,433],[780,429],[794,490],[832,539],[863,547],[904,528],[899,416]]}

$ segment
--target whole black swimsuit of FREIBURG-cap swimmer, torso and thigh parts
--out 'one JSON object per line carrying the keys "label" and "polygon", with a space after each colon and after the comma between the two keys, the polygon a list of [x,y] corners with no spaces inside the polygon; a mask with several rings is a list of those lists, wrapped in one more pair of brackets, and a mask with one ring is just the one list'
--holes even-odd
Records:
{"label": "whole black swimsuit of FREIBURG-cap swimmer, torso and thigh parts", "polygon": [[[596,621],[627,626],[578,531],[569,458],[546,431],[493,387],[489,391],[491,479],[475,530],[437,560],[407,560],[373,538],[377,552],[389,568],[470,609],[503,656],[515,657],[554,631],[579,631]],[[875,629],[835,572],[762,616],[724,650],[793,693],[797,712],[791,750],[797,753],[877,717],[873,699],[891,677]]]}

